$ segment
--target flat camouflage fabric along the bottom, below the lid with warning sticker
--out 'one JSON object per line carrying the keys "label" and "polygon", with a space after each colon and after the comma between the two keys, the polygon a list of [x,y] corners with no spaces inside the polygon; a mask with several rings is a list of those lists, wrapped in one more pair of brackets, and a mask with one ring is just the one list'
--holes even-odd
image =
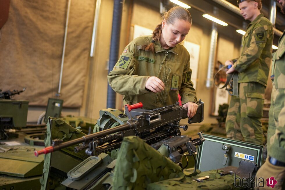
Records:
{"label": "flat camouflage fabric along the bottom, below the lid with warning sticker", "polygon": [[[193,189],[193,190],[222,190],[222,189],[242,189],[240,186],[240,181],[237,180],[237,184],[234,184],[234,175],[225,175],[221,176],[220,172],[223,170],[210,170],[205,172],[196,172],[190,175],[185,175],[180,177],[172,178],[169,180],[163,180],[160,182],[155,182],[147,184],[147,190],[184,190],[184,189]],[[203,182],[197,182],[195,179],[199,177],[209,176],[209,179],[204,180]],[[238,175],[236,175],[238,177]]]}

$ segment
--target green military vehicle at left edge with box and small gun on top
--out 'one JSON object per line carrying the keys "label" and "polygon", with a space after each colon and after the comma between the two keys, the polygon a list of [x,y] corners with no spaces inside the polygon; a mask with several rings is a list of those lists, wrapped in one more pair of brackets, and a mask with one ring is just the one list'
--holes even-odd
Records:
{"label": "green military vehicle at left edge with box and small gun on top", "polygon": [[12,100],[23,90],[0,90],[0,189],[40,189],[44,157],[44,125],[26,125],[27,100]]}

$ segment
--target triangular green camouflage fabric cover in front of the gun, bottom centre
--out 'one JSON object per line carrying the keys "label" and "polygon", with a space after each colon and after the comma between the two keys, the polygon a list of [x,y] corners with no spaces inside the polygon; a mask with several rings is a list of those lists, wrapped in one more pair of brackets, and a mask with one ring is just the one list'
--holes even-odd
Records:
{"label": "triangular green camouflage fabric cover in front of the gun, bottom centre", "polygon": [[180,166],[137,136],[125,137],[117,158],[113,189],[146,189],[147,184],[184,175]]}

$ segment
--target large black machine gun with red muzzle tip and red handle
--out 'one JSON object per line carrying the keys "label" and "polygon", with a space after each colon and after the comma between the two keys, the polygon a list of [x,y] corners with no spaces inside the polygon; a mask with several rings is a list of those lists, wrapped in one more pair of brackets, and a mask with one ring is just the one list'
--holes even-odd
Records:
{"label": "large black machine gun with red muzzle tip and red handle", "polygon": [[[85,135],[64,143],[62,140],[56,139],[51,146],[40,151],[35,151],[35,156],[78,144],[74,148],[74,152],[86,149],[85,153],[87,155],[94,156],[101,152],[120,148],[122,139],[125,136],[138,136],[144,139],[149,145],[152,145],[165,138],[181,135],[180,128],[184,130],[188,129],[187,125],[179,125],[181,119],[187,118],[187,108],[180,106],[178,102],[153,110],[140,109],[142,106],[141,103],[131,106],[126,105],[125,113],[130,119],[123,125]],[[193,118],[188,120],[188,123],[202,122],[204,119],[203,113],[204,102],[200,99],[197,112]],[[51,125],[50,118],[49,122]],[[201,136],[200,138],[203,139]],[[194,142],[192,144],[200,145],[204,140],[190,139],[190,141]],[[193,148],[193,146],[190,148]]]}

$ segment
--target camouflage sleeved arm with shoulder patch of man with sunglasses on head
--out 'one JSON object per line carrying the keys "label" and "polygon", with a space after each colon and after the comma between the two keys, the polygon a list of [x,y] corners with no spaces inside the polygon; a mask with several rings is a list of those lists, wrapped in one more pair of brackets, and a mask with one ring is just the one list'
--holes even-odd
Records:
{"label": "camouflage sleeved arm with shoulder patch of man with sunglasses on head", "polygon": [[[250,46],[234,63],[234,68],[236,71],[243,72],[255,60],[259,59],[263,48],[266,45],[267,39],[272,33],[272,26],[270,26],[268,23],[264,23],[263,26],[259,26],[253,30],[250,40]],[[262,36],[263,38],[261,38]]]}

